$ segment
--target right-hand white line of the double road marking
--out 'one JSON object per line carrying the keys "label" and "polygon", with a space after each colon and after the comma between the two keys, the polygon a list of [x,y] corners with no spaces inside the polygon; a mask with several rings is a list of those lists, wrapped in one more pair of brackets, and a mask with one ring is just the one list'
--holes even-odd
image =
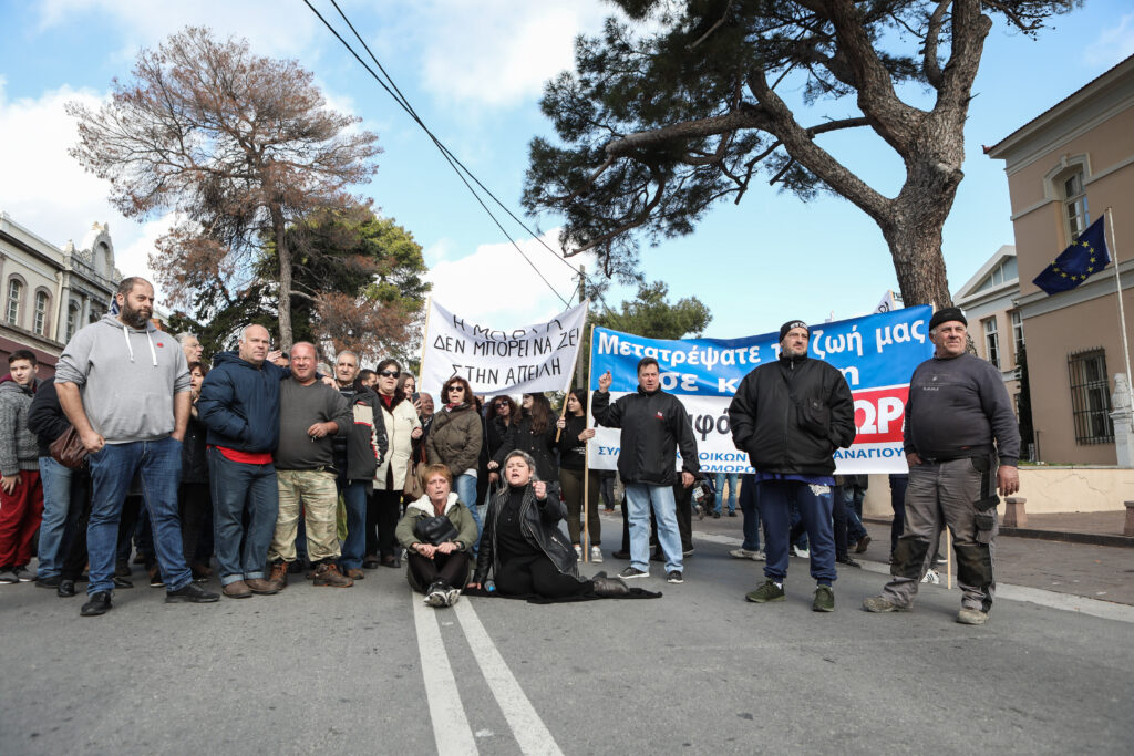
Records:
{"label": "right-hand white line of the double road marking", "polygon": [[[460,626],[465,629],[465,637],[473,649],[473,656],[484,674],[484,680],[489,683],[492,695],[496,696],[500,711],[503,712],[508,725],[511,728],[519,750],[526,756],[545,755],[562,756],[559,746],[543,720],[535,713],[532,702],[524,695],[515,676],[503,661],[503,656],[497,649],[492,638],[489,637],[481,620],[476,617],[472,604],[466,600],[454,606]],[[441,751],[445,753],[445,751]]]}

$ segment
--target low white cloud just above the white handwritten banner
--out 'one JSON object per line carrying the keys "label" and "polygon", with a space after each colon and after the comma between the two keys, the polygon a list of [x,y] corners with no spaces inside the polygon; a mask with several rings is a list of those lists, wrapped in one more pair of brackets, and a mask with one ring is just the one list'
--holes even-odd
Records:
{"label": "low white cloud just above the white handwritten banner", "polygon": [[[558,249],[559,229],[542,237]],[[442,245],[448,243],[440,243]],[[560,295],[577,300],[578,280],[570,267],[556,262],[536,239],[518,240],[519,248],[535,263]],[[433,248],[426,250],[430,255]],[[589,255],[568,261],[593,270]],[[441,258],[429,272],[433,299],[451,313],[493,328],[510,329],[548,320],[566,309],[564,303],[540,280],[511,244],[482,244],[476,252],[459,260]]]}

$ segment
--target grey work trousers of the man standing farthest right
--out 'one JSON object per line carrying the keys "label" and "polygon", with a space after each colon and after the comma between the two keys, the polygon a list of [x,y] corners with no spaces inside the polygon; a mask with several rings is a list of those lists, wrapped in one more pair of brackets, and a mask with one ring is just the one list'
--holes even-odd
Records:
{"label": "grey work trousers of the man standing farthest right", "polygon": [[[894,550],[890,581],[883,595],[898,606],[911,606],[925,570],[925,558],[937,543],[937,525],[943,520],[953,532],[957,555],[957,585],[960,603],[966,609],[983,612],[992,608],[996,592],[993,562],[995,541],[999,525],[996,508],[992,529],[978,538],[974,502],[990,495],[996,481],[996,467],[983,459],[923,461],[909,468],[906,489],[906,527]],[[990,469],[979,469],[980,467]],[[987,540],[983,543],[982,540]]]}

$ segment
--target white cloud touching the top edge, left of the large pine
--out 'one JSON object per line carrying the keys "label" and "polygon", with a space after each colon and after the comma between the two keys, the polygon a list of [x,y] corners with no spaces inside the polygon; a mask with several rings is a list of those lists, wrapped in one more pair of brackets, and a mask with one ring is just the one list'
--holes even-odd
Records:
{"label": "white cloud touching the top edge, left of the large pine", "polygon": [[612,8],[598,2],[447,0],[418,6],[423,84],[442,100],[513,105],[574,67],[575,37]]}

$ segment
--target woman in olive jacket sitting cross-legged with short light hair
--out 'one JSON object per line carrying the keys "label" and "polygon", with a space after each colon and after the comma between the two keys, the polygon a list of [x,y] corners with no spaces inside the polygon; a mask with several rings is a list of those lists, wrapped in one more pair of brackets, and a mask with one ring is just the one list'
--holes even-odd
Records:
{"label": "woman in olive jacket sitting cross-legged with short light hair", "polygon": [[408,554],[406,579],[409,587],[425,594],[430,606],[452,606],[468,579],[476,523],[451,491],[448,467],[425,465],[421,476],[425,495],[406,507],[397,529],[398,543]]}

